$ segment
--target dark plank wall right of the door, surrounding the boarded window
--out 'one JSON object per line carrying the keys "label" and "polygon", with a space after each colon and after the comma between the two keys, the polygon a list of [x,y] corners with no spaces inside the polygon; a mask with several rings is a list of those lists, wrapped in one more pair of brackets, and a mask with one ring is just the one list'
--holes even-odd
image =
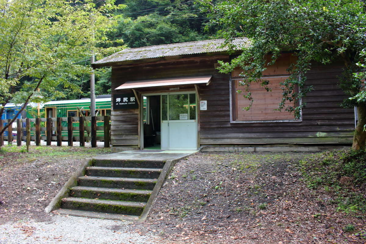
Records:
{"label": "dark plank wall right of the door, surrounding the boarded window", "polygon": [[207,110],[201,111],[201,146],[350,143],[354,111],[339,106],[347,98],[337,87],[337,76],[340,75],[340,66],[314,66],[307,73],[306,84],[313,86],[314,90],[303,99],[307,105],[302,111],[302,121],[273,123],[230,123],[229,82],[214,79],[209,86],[201,89],[201,100],[208,100]]}

